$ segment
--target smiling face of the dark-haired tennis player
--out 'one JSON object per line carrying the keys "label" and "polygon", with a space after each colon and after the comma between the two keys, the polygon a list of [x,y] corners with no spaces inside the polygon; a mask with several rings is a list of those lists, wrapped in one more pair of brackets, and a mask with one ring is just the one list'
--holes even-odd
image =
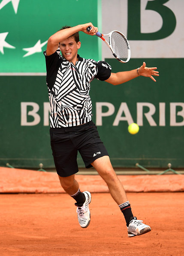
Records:
{"label": "smiling face of the dark-haired tennis player", "polygon": [[77,52],[81,47],[81,42],[76,43],[75,39],[72,37],[66,38],[62,42],[60,42],[60,51],[62,53],[63,58],[72,62],[75,65],[77,61]]}

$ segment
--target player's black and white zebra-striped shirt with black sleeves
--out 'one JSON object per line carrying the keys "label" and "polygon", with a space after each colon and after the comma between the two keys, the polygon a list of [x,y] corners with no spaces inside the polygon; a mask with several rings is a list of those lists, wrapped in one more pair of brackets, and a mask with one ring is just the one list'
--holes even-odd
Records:
{"label": "player's black and white zebra-striped shirt with black sleeves", "polygon": [[91,120],[92,103],[89,96],[90,82],[101,81],[111,75],[107,62],[84,59],[78,55],[75,65],[55,53],[46,56],[44,51],[48,96],[51,106],[52,128],[81,125]]}

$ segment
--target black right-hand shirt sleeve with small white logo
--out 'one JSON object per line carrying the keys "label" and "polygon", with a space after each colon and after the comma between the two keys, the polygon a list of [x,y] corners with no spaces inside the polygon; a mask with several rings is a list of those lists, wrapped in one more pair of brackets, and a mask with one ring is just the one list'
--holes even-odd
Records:
{"label": "black right-hand shirt sleeve with small white logo", "polygon": [[105,81],[111,76],[111,66],[105,61],[99,61],[97,63],[98,73],[95,78],[100,81]]}

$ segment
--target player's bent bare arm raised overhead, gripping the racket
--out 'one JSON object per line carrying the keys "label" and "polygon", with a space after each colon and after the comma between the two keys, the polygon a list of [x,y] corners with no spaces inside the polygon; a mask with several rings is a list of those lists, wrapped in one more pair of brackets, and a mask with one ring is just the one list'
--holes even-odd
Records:
{"label": "player's bent bare arm raised overhead, gripping the racket", "polygon": [[[88,32],[86,29],[89,26],[91,26],[91,30]],[[78,31],[83,31],[85,34],[95,35],[98,31],[98,28],[94,27],[94,25],[90,22],[57,31],[55,34],[48,38],[46,55],[50,56],[51,54],[55,53],[61,41],[65,40]]]}

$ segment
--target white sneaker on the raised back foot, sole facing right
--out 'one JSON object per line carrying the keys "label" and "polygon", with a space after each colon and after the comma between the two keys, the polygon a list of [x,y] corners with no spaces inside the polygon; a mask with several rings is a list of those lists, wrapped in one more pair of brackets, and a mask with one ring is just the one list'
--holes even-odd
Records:
{"label": "white sneaker on the raised back foot, sole facing right", "polygon": [[81,228],[87,228],[90,225],[90,210],[88,206],[91,201],[91,194],[88,191],[84,191],[83,194],[85,195],[86,200],[82,206],[78,205],[77,217]]}

